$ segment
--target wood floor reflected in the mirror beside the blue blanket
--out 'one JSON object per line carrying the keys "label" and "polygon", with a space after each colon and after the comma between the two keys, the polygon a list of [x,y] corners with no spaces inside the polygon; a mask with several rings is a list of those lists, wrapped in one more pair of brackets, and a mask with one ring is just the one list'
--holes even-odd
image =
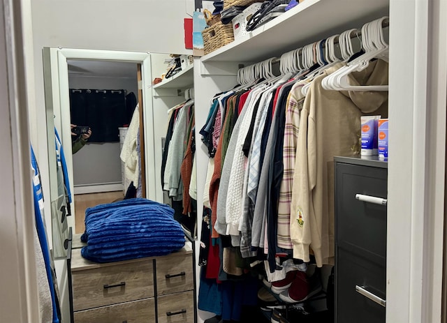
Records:
{"label": "wood floor reflected in the mirror beside the blue blanket", "polygon": [[85,231],[85,210],[89,207],[96,206],[98,204],[111,203],[115,200],[124,198],[122,190],[116,192],[104,192],[104,193],[90,193],[90,194],[77,194],[75,195],[75,223],[76,232],[82,233]]}

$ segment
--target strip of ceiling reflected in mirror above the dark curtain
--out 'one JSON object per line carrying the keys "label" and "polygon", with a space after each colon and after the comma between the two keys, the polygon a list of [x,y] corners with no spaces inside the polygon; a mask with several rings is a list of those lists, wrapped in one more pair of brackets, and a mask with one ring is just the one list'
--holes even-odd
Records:
{"label": "strip of ceiling reflected in mirror above the dark curtain", "polygon": [[121,61],[68,60],[68,75],[135,78],[137,64]]}

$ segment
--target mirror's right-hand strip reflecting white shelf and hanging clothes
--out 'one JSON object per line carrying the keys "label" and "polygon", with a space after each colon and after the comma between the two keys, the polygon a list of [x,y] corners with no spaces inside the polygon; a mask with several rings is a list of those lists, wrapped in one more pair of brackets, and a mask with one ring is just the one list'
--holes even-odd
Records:
{"label": "mirror's right-hand strip reflecting white shelf and hanging clothes", "polygon": [[[197,235],[197,185],[193,57],[181,54],[151,54],[156,146],[161,144],[160,179],[163,202],[192,237]],[[156,147],[156,151],[159,151]],[[160,183],[160,184],[159,184]]]}

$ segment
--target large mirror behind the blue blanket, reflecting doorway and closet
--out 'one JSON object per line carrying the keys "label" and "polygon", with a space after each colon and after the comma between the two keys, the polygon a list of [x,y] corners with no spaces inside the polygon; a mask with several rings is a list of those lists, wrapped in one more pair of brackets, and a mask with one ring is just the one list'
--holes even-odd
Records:
{"label": "large mirror behind the blue blanket, reflecting doorway and closet", "polygon": [[[179,190],[187,177],[186,197],[191,192],[195,198],[171,194],[173,187],[163,178],[170,123],[184,110],[183,140],[193,131],[192,57],[60,48],[44,48],[43,57],[54,256],[66,256],[70,227],[73,235],[84,232],[87,207],[129,193],[170,204],[185,232],[196,237],[195,165],[191,151],[184,158],[187,145],[181,159],[170,158],[188,173]],[[125,142],[128,133],[135,136],[136,123],[138,170],[126,164],[135,156]],[[129,190],[131,179],[138,182],[135,192]]]}

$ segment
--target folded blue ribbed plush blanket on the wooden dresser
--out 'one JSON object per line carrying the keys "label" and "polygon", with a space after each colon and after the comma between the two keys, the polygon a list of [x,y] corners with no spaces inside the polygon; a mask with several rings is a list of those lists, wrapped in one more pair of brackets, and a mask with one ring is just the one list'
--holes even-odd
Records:
{"label": "folded blue ribbed plush blanket on the wooden dresser", "polygon": [[116,262],[168,255],[183,248],[181,225],[174,210],[143,198],[100,204],[85,211],[87,246],[82,257],[94,262]]}

